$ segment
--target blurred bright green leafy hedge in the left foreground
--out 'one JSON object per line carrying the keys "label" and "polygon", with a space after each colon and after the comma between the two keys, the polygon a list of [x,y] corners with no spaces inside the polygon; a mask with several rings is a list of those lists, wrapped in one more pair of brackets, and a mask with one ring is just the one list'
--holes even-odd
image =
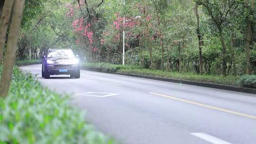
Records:
{"label": "blurred bright green leafy hedge in the left foreground", "polygon": [[0,144],[113,143],[95,132],[69,101],[14,68],[8,97],[0,98]]}

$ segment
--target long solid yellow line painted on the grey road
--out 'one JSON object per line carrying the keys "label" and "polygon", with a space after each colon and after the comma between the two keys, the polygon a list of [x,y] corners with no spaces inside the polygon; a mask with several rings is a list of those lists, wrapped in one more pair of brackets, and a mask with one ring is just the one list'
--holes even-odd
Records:
{"label": "long solid yellow line painted on the grey road", "polygon": [[213,107],[213,106],[201,104],[201,103],[194,102],[194,101],[190,101],[190,100],[185,100],[185,99],[174,98],[174,97],[171,97],[171,96],[166,96],[166,95],[159,94],[159,93],[155,93],[155,92],[149,92],[149,93],[154,94],[154,95],[157,95],[157,96],[160,96],[160,97],[165,97],[165,98],[168,98],[168,99],[174,99],[174,100],[178,100],[178,101],[190,103],[190,104],[197,105],[197,106],[201,106],[201,107],[205,107],[205,108],[211,108],[211,109],[219,110],[219,111],[222,111],[222,112],[226,112],[226,113],[238,115],[238,116],[241,116],[241,117],[247,117],[247,118],[256,119],[256,116],[252,116],[252,115],[247,115],[247,114],[239,113],[239,112],[232,111],[232,110],[229,110],[229,109]]}

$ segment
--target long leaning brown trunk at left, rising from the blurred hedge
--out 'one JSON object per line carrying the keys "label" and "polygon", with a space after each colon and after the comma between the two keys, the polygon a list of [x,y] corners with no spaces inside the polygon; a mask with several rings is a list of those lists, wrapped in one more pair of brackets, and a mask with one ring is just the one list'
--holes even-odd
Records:
{"label": "long leaning brown trunk at left, rising from the blurred hedge", "polygon": [[10,24],[10,33],[7,43],[6,60],[4,61],[3,72],[0,81],[0,96],[2,97],[6,97],[9,91],[12,69],[15,63],[15,50],[18,42],[19,27],[22,20],[24,3],[25,0],[15,0],[14,3],[13,15]]}

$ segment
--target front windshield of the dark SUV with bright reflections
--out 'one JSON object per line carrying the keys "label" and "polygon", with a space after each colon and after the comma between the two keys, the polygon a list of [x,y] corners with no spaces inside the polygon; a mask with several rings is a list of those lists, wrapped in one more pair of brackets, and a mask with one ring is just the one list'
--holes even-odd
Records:
{"label": "front windshield of the dark SUV with bright reflections", "polygon": [[49,57],[68,57],[68,58],[74,58],[74,54],[71,50],[52,50],[48,53]]}

